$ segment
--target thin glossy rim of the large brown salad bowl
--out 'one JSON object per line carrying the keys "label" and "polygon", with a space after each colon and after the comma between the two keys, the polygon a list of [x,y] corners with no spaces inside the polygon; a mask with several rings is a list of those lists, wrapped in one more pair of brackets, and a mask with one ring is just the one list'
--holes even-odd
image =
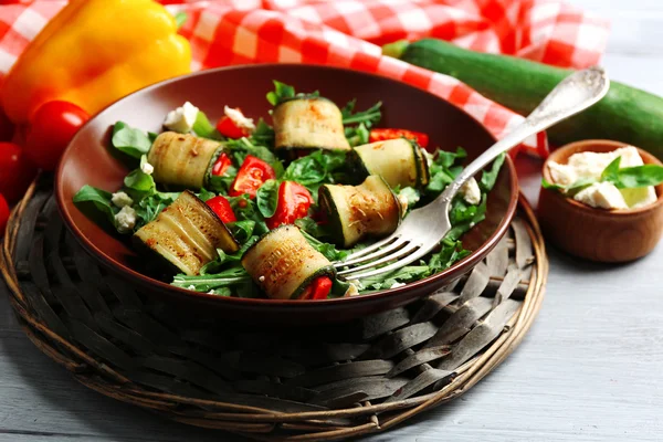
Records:
{"label": "thin glossy rim of the large brown salad bowl", "polygon": [[[164,291],[164,292],[170,292],[172,294],[177,294],[177,295],[181,295],[181,296],[194,296],[198,301],[231,303],[238,307],[241,307],[241,306],[244,306],[244,307],[274,306],[274,307],[286,307],[286,308],[287,307],[318,308],[318,307],[324,307],[324,306],[338,305],[340,303],[349,303],[349,302],[358,303],[358,304],[359,303],[371,303],[371,302],[375,302],[378,299],[382,301],[383,298],[398,297],[408,292],[421,288],[424,285],[433,284],[436,281],[445,280],[445,278],[451,280],[454,276],[460,276],[464,273],[467,273],[470,270],[474,269],[474,266],[476,266],[478,264],[478,262],[481,260],[483,260],[485,257],[485,255],[497,245],[497,243],[504,236],[504,234],[506,233],[507,229],[511,225],[511,222],[516,212],[516,208],[517,208],[518,199],[519,199],[518,177],[516,173],[516,168],[515,168],[514,162],[509,155],[506,155],[506,160],[504,161],[504,164],[508,168],[508,172],[509,172],[509,190],[511,190],[511,199],[508,201],[506,214],[502,219],[499,224],[497,225],[497,229],[495,229],[493,234],[488,239],[486,239],[480,248],[472,251],[470,253],[470,255],[465,256],[463,260],[456,262],[451,267],[449,267],[442,272],[435,273],[435,274],[428,276],[425,278],[422,278],[422,280],[414,281],[412,283],[408,283],[403,286],[399,286],[396,288],[382,290],[382,291],[378,291],[378,292],[373,292],[373,293],[368,293],[365,295],[341,296],[341,297],[337,297],[337,298],[327,298],[327,299],[271,299],[271,298],[243,298],[243,297],[232,297],[232,296],[219,296],[219,295],[213,295],[213,294],[203,293],[203,292],[194,292],[194,291],[190,291],[187,288],[176,287],[176,286],[165,283],[162,281],[144,275],[144,274],[115,261],[113,257],[106,255],[101,249],[98,249],[94,244],[93,241],[88,240],[84,235],[84,233],[78,229],[78,227],[74,222],[73,217],[67,209],[67,204],[65,203],[64,183],[63,183],[62,175],[64,171],[64,165],[66,164],[67,156],[71,154],[72,146],[75,144],[76,138],[80,136],[81,131],[87,125],[92,124],[101,113],[118,105],[120,102],[128,99],[129,97],[131,97],[134,95],[145,94],[152,90],[159,88],[164,85],[182,81],[183,78],[197,77],[197,76],[202,76],[202,75],[214,75],[218,72],[230,71],[230,70],[262,70],[262,69],[272,69],[272,67],[277,67],[277,66],[304,66],[304,67],[315,67],[315,69],[323,69],[323,70],[339,71],[339,72],[344,72],[344,73],[351,73],[354,75],[364,75],[364,76],[369,76],[369,77],[378,76],[388,82],[406,85],[407,87],[418,90],[418,91],[423,91],[427,94],[433,95],[435,98],[441,99],[441,101],[452,105],[459,112],[465,114],[467,117],[473,119],[477,125],[485,128],[485,126],[481,122],[478,122],[474,116],[470,115],[469,113],[466,113],[464,109],[462,109],[457,105],[455,105],[438,95],[434,95],[423,88],[413,86],[411,84],[408,84],[408,83],[404,83],[404,82],[401,82],[401,81],[398,81],[398,80],[394,80],[394,78],[391,78],[388,76],[379,75],[376,73],[368,73],[368,72],[364,72],[364,71],[350,70],[347,67],[337,67],[337,66],[328,66],[328,65],[320,65],[320,64],[307,64],[307,63],[261,63],[261,64],[240,64],[240,65],[222,66],[222,67],[209,69],[209,70],[189,73],[186,75],[176,76],[176,77],[168,78],[168,80],[165,80],[159,83],[151,84],[141,90],[135,91],[135,92],[133,92],[128,95],[125,95],[124,97],[110,103],[109,105],[107,105],[106,107],[104,107],[103,109],[101,109],[99,112],[97,112],[96,114],[94,114],[93,116],[90,117],[90,119],[74,135],[74,137],[67,145],[66,149],[64,150],[61,161],[60,161],[56,172],[55,172],[55,186],[54,186],[55,187],[55,200],[57,203],[56,204],[57,210],[59,210],[61,217],[63,218],[63,220],[65,221],[64,222],[65,225],[67,227],[70,232],[72,232],[74,238],[76,238],[78,244],[81,244],[90,254],[95,256],[95,259],[97,261],[99,261],[102,264],[104,264],[107,269],[110,269],[110,270],[117,272],[118,274],[126,277],[127,280],[129,280],[143,287],[146,287],[147,290],[150,290],[150,291],[158,290],[158,291]],[[491,137],[491,139],[493,141],[497,141],[497,139],[495,138],[495,136],[493,136],[493,134],[491,134],[487,130],[486,130],[486,134]]]}

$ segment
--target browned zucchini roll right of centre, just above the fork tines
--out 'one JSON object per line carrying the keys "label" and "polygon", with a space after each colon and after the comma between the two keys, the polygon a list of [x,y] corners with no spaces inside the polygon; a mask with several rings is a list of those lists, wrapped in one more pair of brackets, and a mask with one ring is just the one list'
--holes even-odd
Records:
{"label": "browned zucchini roll right of centre, just above the fork tines", "polygon": [[327,217],[338,245],[349,248],[365,236],[392,233],[403,214],[398,197],[387,181],[371,175],[359,186],[324,185],[318,203]]}

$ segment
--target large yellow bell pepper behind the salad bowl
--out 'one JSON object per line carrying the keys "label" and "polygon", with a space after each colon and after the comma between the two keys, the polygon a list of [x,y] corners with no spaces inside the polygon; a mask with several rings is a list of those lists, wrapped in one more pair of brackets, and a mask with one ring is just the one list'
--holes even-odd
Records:
{"label": "large yellow bell pepper behind the salad bowl", "polygon": [[152,0],[72,0],[4,78],[2,105],[18,124],[62,99],[91,115],[149,84],[190,72],[189,42]]}

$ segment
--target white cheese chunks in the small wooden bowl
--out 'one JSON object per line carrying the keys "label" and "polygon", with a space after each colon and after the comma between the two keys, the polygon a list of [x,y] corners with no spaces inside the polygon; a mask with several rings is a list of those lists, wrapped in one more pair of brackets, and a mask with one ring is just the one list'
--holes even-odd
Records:
{"label": "white cheese chunks in the small wooden bowl", "polygon": [[[619,148],[610,152],[578,152],[569,157],[566,165],[548,164],[552,182],[560,186],[571,186],[578,180],[600,180],[603,170],[617,157],[621,157],[620,168],[642,166],[644,162],[633,146]],[[656,190],[653,187],[636,189],[617,189],[613,185],[592,185],[576,194],[577,201],[591,207],[603,209],[635,209],[656,201]],[[621,194],[618,198],[615,192]]]}

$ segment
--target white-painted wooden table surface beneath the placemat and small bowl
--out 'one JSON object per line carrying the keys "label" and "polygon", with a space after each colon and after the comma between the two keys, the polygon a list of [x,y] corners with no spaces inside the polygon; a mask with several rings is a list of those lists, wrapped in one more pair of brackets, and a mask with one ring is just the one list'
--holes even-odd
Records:
{"label": "white-painted wooden table surface beneath the placemat and small bowl", "polygon": [[[611,77],[663,95],[663,1],[571,0],[613,20]],[[522,164],[522,170],[539,167]],[[538,178],[523,180],[536,194]],[[467,394],[371,441],[663,440],[663,244],[622,266],[549,250],[541,313]],[[0,296],[0,441],[240,441],[176,424],[74,381]]]}

